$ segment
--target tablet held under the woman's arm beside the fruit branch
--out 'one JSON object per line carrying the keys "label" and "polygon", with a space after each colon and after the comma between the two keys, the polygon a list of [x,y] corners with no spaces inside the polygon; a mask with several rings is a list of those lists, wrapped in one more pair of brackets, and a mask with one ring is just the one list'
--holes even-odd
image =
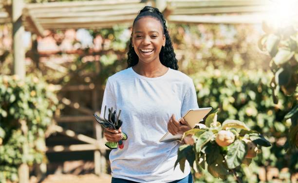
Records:
{"label": "tablet held under the woman's arm beside the fruit branch", "polygon": [[[182,117],[184,118],[190,128],[194,128],[197,123],[202,121],[202,119],[211,111],[212,107],[189,109],[186,114]],[[180,121],[181,119],[179,119]],[[173,140],[178,140],[182,138],[182,134],[172,135],[167,132],[159,142],[168,142]]]}

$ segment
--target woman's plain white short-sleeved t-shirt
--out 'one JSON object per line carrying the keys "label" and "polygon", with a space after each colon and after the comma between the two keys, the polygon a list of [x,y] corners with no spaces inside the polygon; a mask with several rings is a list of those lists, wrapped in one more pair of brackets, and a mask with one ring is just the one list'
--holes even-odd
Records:
{"label": "woman's plain white short-sleeved t-shirt", "polygon": [[[159,142],[168,132],[172,114],[179,120],[188,109],[198,108],[192,79],[169,68],[156,78],[137,74],[131,67],[109,77],[104,92],[104,107],[121,109],[122,132],[128,135],[124,148],[110,153],[112,177],[140,183],[168,183],[185,178],[190,172],[186,161],[185,171],[177,160],[178,143]],[[106,114],[108,116],[108,114]]]}

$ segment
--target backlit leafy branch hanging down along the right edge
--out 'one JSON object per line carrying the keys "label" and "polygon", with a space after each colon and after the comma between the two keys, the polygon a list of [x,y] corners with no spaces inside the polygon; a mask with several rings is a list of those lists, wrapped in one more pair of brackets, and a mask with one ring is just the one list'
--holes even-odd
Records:
{"label": "backlit leafy branch hanging down along the right edge", "polygon": [[275,29],[263,23],[265,34],[259,40],[259,48],[271,56],[270,68],[274,74],[271,81],[273,99],[278,102],[276,93],[281,89],[284,95],[293,95],[292,110],[285,116],[290,118],[288,145],[298,150],[298,27],[294,25]]}

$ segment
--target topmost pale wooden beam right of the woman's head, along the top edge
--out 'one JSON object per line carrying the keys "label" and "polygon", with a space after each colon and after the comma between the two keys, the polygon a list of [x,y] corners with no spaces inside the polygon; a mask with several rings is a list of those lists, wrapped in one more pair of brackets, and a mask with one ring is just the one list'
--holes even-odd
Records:
{"label": "topmost pale wooden beam right of the woman's head, along the top edge", "polygon": [[270,0],[168,0],[168,6],[176,8],[269,5],[270,3],[272,3]]}

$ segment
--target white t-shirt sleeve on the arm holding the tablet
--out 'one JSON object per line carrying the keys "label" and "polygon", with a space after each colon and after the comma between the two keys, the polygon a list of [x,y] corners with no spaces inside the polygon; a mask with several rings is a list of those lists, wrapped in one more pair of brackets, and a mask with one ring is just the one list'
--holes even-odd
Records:
{"label": "white t-shirt sleeve on the arm holding the tablet", "polygon": [[182,101],[181,117],[184,116],[189,109],[197,109],[197,108],[199,108],[199,106],[198,106],[196,89],[194,87],[194,84],[191,82],[191,84],[189,84],[187,87],[186,94]]}

